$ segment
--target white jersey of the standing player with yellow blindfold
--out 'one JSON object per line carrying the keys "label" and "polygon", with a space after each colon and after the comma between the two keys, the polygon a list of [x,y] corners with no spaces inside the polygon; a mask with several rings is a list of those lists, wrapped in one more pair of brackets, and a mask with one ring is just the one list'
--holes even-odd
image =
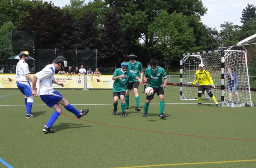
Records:
{"label": "white jersey of the standing player with yellow blindfold", "polygon": [[27,82],[28,79],[25,75],[29,74],[28,64],[24,60],[20,60],[16,66],[16,81]]}

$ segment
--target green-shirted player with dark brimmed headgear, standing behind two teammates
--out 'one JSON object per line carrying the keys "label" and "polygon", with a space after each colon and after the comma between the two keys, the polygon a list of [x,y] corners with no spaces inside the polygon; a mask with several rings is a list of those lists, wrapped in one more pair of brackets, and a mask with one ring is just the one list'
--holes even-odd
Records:
{"label": "green-shirted player with dark brimmed headgear, standing behind two teammates", "polygon": [[[128,55],[128,58],[130,58],[130,61],[127,62],[129,65],[127,70],[131,71],[134,75],[136,75],[142,80],[142,77],[143,77],[142,65],[140,62],[135,61],[135,58],[137,58],[137,56],[131,53],[130,55]],[[135,110],[141,111],[140,97],[138,94],[138,86],[139,86],[139,82],[137,79],[129,80],[129,83],[127,85],[126,92],[125,92],[125,104],[126,104],[125,109],[129,108],[129,100],[130,100],[129,94],[130,94],[130,91],[133,89],[133,92],[135,95],[135,101],[136,101]]]}

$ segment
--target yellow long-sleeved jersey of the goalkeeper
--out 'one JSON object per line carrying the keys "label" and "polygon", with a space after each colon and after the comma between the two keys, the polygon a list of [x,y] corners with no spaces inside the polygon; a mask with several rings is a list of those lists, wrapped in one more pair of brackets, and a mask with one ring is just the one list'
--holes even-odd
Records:
{"label": "yellow long-sleeved jersey of the goalkeeper", "polygon": [[210,73],[205,69],[202,72],[200,70],[196,71],[196,77],[193,81],[193,85],[195,85],[198,81],[199,85],[213,85],[212,77],[210,76]]}

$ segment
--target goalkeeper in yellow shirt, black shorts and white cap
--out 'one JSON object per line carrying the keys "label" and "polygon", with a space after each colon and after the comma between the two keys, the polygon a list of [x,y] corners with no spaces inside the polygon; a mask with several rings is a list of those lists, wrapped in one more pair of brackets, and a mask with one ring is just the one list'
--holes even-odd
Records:
{"label": "goalkeeper in yellow shirt, black shorts and white cap", "polygon": [[207,91],[207,94],[210,96],[210,98],[215,102],[215,107],[219,107],[219,104],[215,98],[215,96],[211,93],[211,86],[215,88],[213,84],[212,77],[210,73],[204,69],[204,64],[199,64],[199,70],[196,71],[196,77],[193,82],[188,82],[188,85],[195,85],[199,81],[199,87],[198,87],[198,106],[202,105],[202,93],[204,91]]}

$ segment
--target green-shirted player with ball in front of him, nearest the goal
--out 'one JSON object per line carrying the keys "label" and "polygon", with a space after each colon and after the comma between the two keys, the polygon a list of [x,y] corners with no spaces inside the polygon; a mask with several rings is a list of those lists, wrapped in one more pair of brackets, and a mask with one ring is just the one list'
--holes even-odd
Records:
{"label": "green-shirted player with ball in front of him, nearest the goal", "polygon": [[[164,115],[164,88],[166,87],[166,83],[168,81],[166,72],[164,68],[158,66],[157,59],[153,58],[150,60],[150,66],[145,70],[144,74],[144,82],[148,82],[148,86],[154,89],[154,93],[152,96],[146,97],[146,102],[144,103],[144,114],[143,117],[147,117],[147,111],[149,103],[152,99],[154,99],[154,94],[157,93],[159,96],[159,118],[165,118]],[[164,78],[164,83],[162,81]]]}

